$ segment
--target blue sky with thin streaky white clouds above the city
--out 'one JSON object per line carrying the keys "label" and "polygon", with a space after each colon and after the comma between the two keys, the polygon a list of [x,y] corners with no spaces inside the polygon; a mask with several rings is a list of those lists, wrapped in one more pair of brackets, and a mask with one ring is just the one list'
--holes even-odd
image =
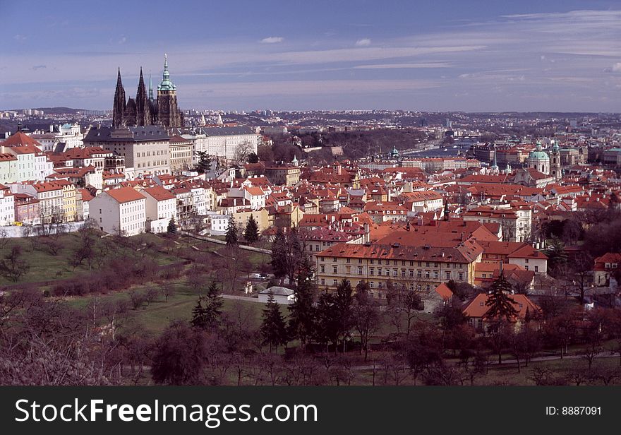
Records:
{"label": "blue sky with thin streaky white clouds above the city", "polygon": [[620,1],[5,1],[0,108],[621,112]]}

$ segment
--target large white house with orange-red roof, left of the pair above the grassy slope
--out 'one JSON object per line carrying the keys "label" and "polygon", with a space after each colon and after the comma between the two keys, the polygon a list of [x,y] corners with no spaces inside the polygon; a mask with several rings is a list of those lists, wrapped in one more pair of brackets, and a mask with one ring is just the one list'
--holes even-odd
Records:
{"label": "large white house with orange-red roof, left of the pair above the grassy slope", "polygon": [[133,236],[145,231],[146,201],[133,187],[111,189],[90,200],[89,215],[104,232]]}

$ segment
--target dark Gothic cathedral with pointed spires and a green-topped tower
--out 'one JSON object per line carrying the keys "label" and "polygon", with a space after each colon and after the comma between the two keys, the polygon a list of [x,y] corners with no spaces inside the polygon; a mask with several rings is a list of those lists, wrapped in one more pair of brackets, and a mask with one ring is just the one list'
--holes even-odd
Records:
{"label": "dark Gothic cathedral with pointed spires and a green-topped tower", "polygon": [[126,100],[125,88],[121,81],[121,68],[116,77],[114,107],[112,108],[112,126],[152,126],[161,125],[169,128],[183,126],[183,112],[177,105],[176,86],[170,80],[168,56],[164,54],[164,73],[157,86],[157,98],[153,97],[153,86],[149,77],[149,90],[145,86],[143,68],[140,67],[140,79],[136,97]]}

